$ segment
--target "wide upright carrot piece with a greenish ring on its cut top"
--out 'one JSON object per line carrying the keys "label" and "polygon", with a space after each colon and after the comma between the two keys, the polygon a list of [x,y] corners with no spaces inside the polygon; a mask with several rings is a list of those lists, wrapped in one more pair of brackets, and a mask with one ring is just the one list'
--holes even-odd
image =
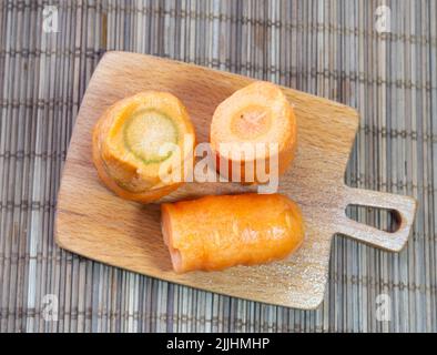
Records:
{"label": "wide upright carrot piece with a greenish ring on its cut top", "polygon": [[148,203],[180,186],[183,176],[175,181],[171,174],[175,166],[183,171],[194,141],[182,102],[166,92],[145,91],[120,100],[100,118],[93,131],[93,162],[110,190]]}

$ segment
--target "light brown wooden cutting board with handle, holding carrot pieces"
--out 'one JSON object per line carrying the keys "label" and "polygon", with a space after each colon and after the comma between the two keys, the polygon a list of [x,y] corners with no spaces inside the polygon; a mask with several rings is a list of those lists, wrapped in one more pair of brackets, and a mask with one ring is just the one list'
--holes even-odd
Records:
{"label": "light brown wooden cutting board with handle, holding carrot pieces", "polygon": [[[280,192],[302,207],[306,239],[287,261],[238,266],[224,272],[176,275],[162,241],[159,204],[119,199],[98,180],[91,162],[91,131],[114,101],[142,90],[169,91],[186,105],[197,141],[209,138],[215,106],[253,79],[196,65],[126,52],[105,53],[90,81],[77,119],[58,199],[55,240],[83,256],[231,296],[311,310],[324,297],[331,243],[335,233],[398,252],[406,243],[416,211],[407,196],[350,189],[346,163],[358,128],[352,108],[284,89],[298,124],[298,151],[282,176]],[[232,183],[187,183],[166,200],[253,191]],[[396,210],[399,229],[383,232],[349,220],[348,204]],[[353,257],[353,255],[350,255]]]}

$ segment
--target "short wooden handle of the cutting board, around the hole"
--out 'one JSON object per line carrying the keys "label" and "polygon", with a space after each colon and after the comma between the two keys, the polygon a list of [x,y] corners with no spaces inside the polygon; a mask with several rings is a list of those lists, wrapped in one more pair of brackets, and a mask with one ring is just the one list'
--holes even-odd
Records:
{"label": "short wooden handle of the cutting board, around the hole", "polygon": [[[348,186],[345,189],[344,196],[346,205],[338,224],[338,233],[392,252],[399,252],[405,246],[416,214],[417,202],[415,199]],[[395,211],[398,229],[393,233],[385,232],[350,220],[346,216],[346,206],[350,204]]]}

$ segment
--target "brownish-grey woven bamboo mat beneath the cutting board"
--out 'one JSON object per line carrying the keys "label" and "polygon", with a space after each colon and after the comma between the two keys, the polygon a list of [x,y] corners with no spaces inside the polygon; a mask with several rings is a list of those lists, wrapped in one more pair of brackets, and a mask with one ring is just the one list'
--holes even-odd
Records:
{"label": "brownish-grey woven bamboo mat beneath the cutting board", "polygon": [[[0,331],[437,332],[437,1],[385,4],[384,23],[383,1],[367,0],[0,0]],[[195,291],[58,248],[54,207],[69,139],[108,50],[232,71],[357,108],[347,183],[418,199],[408,246],[392,254],[336,236],[325,302],[314,312]],[[349,214],[390,224],[375,211]],[[55,303],[58,321],[47,321]]]}

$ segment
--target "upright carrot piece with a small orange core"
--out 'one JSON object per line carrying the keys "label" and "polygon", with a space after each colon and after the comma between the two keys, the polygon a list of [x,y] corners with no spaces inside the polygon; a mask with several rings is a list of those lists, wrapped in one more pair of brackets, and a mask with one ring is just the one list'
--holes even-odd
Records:
{"label": "upright carrot piece with a small orange core", "polygon": [[[262,161],[266,173],[271,172],[270,166],[275,166],[281,175],[293,161],[296,150],[293,108],[278,87],[254,82],[234,92],[216,108],[210,140],[216,154],[217,171],[222,175],[227,173],[230,180],[236,169],[243,183],[260,182],[256,169]],[[255,152],[260,144],[266,148],[264,152]],[[277,151],[270,144],[276,144]],[[247,150],[251,146],[253,150]],[[240,156],[235,156],[235,152]],[[252,176],[247,176],[247,171]]]}

